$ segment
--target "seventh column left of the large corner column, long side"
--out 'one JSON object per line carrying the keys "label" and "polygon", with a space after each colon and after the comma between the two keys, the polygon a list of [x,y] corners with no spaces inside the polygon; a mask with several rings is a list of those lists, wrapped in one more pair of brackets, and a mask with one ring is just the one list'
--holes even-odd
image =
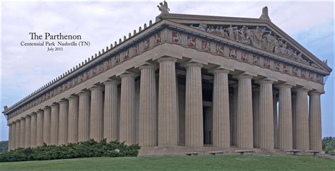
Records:
{"label": "seventh column left of the large corner column, long side", "polygon": [[67,100],[61,100],[59,101],[58,145],[67,143],[68,117],[69,102]]}

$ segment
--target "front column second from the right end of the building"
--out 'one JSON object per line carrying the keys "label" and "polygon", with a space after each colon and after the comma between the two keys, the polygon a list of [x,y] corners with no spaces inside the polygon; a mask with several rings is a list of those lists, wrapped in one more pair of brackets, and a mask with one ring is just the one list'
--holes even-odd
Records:
{"label": "front column second from the right end of the building", "polygon": [[295,90],[297,93],[297,108],[295,126],[296,132],[296,148],[301,151],[308,151],[310,149],[309,126],[308,126],[308,100],[305,88]]}

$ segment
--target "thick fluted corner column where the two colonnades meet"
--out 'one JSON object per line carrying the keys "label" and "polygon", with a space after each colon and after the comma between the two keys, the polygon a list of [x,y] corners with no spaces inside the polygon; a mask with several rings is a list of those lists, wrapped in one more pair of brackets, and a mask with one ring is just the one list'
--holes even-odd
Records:
{"label": "thick fluted corner column where the two colonnades meet", "polygon": [[178,143],[176,61],[172,57],[158,59],[158,146],[177,146]]}

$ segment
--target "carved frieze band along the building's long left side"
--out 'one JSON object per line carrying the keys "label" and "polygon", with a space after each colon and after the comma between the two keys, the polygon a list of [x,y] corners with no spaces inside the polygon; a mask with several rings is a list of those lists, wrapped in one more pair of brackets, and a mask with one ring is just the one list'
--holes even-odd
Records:
{"label": "carved frieze band along the building's long left side", "polygon": [[142,42],[139,42],[138,44],[129,47],[128,49],[125,49],[123,52],[120,52],[119,54],[110,57],[109,59],[101,62],[100,64],[97,64],[93,68],[88,69],[88,71],[85,71],[78,76],[71,78],[71,80],[66,81],[66,83],[62,83],[57,88],[49,90],[47,93],[40,95],[39,98],[33,100],[32,102],[28,102],[26,105],[23,105],[22,107],[19,107],[17,110],[8,114],[8,119],[15,117],[16,115],[24,112],[25,110],[29,110],[30,108],[39,105],[41,102],[45,102],[50,98],[53,98],[54,96],[59,95],[64,91],[69,90],[70,88],[73,88],[74,86],[78,86],[80,83],[83,83],[88,79],[93,78],[94,76],[98,76],[100,73],[114,68],[114,66],[122,64],[122,62],[124,61],[136,57],[137,55],[147,51],[148,49],[152,49],[153,47],[160,45],[160,43],[163,42],[161,35],[161,32],[155,33],[151,37],[148,37],[146,40],[143,40]]}

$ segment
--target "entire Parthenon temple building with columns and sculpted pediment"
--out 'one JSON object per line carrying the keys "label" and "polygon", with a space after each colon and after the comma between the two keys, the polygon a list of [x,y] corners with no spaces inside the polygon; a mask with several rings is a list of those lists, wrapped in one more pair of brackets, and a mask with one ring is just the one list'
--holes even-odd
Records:
{"label": "entire Parthenon temple building with columns and sculpted pediment", "polygon": [[4,107],[9,150],[93,138],[140,155],[319,153],[320,61],[268,16],[160,15]]}

